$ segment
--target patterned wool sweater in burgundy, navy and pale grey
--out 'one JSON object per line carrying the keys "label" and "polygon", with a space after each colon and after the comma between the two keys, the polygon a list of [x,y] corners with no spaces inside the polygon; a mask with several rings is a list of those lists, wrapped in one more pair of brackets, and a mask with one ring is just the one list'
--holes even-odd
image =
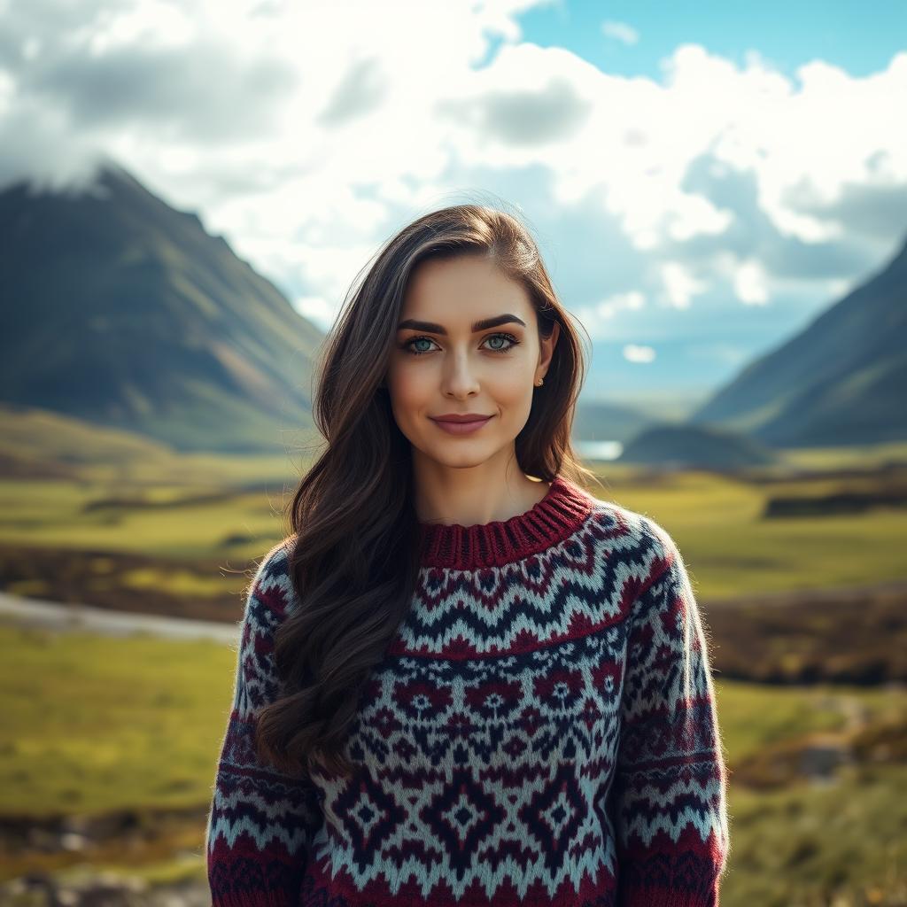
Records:
{"label": "patterned wool sweater in burgundy, navy and pale grey", "polygon": [[258,567],[206,832],[213,907],[717,907],[727,773],[668,532],[562,477],[506,522],[420,528],[348,783],[256,759],[297,607],[284,545]]}

